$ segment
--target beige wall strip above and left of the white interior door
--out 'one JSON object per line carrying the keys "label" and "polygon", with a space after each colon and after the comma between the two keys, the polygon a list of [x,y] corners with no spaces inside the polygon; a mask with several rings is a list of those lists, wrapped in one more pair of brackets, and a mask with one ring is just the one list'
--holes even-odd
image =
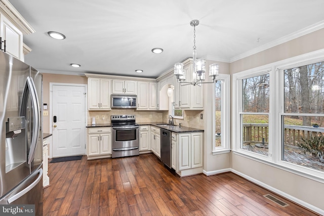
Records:
{"label": "beige wall strip above and left of the white interior door", "polygon": [[[43,73],[43,103],[47,104],[48,111],[50,110],[50,82],[55,83],[76,83],[87,84],[88,79],[86,76],[74,76],[74,75],[61,75],[52,73]],[[49,113],[50,116],[50,113]],[[43,116],[43,132],[50,133],[50,117]]]}

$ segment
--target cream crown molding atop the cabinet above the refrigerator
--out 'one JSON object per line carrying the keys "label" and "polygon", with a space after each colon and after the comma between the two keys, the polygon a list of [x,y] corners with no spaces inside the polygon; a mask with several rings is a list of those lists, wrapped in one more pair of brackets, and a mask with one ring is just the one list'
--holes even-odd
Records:
{"label": "cream crown molding atop the cabinet above the refrigerator", "polygon": [[21,16],[21,14],[12,6],[8,0],[0,0],[0,12],[5,13],[7,17],[24,33],[32,34],[35,30]]}

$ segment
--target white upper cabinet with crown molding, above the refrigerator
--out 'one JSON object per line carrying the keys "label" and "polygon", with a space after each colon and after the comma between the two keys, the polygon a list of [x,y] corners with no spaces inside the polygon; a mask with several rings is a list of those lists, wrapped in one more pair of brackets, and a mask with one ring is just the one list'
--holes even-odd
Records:
{"label": "white upper cabinet with crown molding, above the refrigerator", "polygon": [[[23,61],[23,34],[34,33],[35,30],[26,22],[19,12],[4,0],[0,4],[0,37],[6,40],[6,53]],[[1,50],[4,50],[4,42]]]}

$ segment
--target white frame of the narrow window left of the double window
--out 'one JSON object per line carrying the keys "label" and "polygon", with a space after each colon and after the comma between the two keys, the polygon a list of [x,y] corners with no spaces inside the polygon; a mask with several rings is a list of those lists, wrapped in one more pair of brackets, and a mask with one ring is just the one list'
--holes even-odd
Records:
{"label": "white frame of the narrow window left of the double window", "polygon": [[213,155],[216,154],[223,154],[228,153],[231,151],[231,145],[230,145],[230,75],[229,74],[219,74],[216,77],[217,81],[222,82],[221,87],[221,97],[222,97],[222,103],[221,103],[221,146],[216,147],[215,146],[215,137],[216,137],[216,84],[213,83]]}

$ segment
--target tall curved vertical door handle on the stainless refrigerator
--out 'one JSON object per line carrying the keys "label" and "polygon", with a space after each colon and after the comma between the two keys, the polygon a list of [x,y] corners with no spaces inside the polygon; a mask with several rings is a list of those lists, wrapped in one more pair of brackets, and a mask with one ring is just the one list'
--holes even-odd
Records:
{"label": "tall curved vertical door handle on the stainless refrigerator", "polygon": [[27,77],[26,79],[26,84],[22,95],[22,102],[20,107],[20,116],[26,116],[28,92],[30,94],[30,99],[33,107],[32,110],[33,111],[33,134],[31,137],[30,149],[28,154],[28,164],[31,164],[32,160],[34,159],[34,154],[36,150],[38,131],[40,127],[39,124],[40,113],[39,113],[39,102],[38,102],[35,84],[32,78],[30,77]]}

